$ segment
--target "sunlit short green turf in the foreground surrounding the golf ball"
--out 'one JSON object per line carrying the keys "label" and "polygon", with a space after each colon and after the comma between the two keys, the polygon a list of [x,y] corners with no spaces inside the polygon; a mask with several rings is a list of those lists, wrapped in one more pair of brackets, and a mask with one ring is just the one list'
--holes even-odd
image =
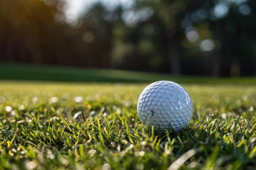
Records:
{"label": "sunlit short green turf in the foreground surrounding the golf ball", "polygon": [[137,116],[147,84],[0,81],[0,169],[255,169],[255,85],[182,84],[193,117],[157,134]]}

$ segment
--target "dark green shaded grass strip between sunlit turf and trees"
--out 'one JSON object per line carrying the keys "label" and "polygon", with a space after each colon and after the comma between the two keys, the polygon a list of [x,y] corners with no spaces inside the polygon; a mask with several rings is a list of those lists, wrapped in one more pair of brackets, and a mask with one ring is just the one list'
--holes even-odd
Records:
{"label": "dark green shaded grass strip between sunlit turf and trees", "polygon": [[256,77],[175,76],[164,73],[76,68],[70,66],[0,63],[0,79],[47,80],[72,82],[156,82],[171,80],[180,83],[244,83],[256,84]]}

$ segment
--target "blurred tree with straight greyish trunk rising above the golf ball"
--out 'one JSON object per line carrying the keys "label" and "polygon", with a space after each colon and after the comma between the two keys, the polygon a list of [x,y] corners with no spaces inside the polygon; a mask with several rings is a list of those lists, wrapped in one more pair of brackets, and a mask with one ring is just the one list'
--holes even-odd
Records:
{"label": "blurred tree with straight greyish trunk rising above the golf ball", "polygon": [[182,30],[180,22],[184,17],[186,0],[138,0],[138,7],[150,6],[154,15],[164,26],[165,46],[168,51],[170,72],[181,74],[180,66],[180,37]]}

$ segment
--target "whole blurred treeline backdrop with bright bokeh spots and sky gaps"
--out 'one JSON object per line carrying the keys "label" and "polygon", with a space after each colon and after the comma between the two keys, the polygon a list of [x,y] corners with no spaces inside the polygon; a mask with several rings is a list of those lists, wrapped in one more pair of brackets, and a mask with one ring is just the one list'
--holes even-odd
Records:
{"label": "whole blurred treeline backdrop with bright bokeh spots and sky gaps", "polygon": [[0,63],[255,76],[255,0],[0,0]]}

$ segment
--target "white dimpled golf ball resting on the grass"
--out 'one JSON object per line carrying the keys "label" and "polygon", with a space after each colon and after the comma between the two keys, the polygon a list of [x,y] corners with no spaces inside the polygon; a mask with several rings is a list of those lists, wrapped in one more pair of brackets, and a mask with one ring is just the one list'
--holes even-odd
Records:
{"label": "white dimpled golf ball resting on the grass", "polygon": [[193,104],[189,93],[179,84],[159,81],[148,85],[140,94],[137,111],[141,122],[151,129],[179,132],[189,124]]}

